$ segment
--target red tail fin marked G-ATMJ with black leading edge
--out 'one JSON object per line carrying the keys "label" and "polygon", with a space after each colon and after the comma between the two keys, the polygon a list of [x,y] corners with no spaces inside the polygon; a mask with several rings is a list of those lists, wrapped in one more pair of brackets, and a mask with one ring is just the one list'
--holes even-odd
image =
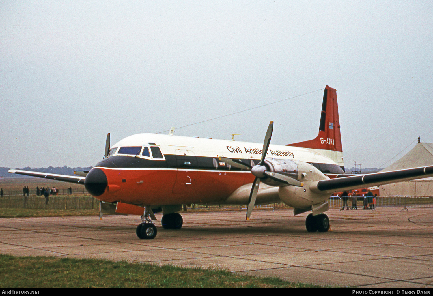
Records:
{"label": "red tail fin marked G-ATMJ with black leading edge", "polygon": [[337,91],[326,85],[323,93],[322,115],[319,134],[310,141],[287,144],[302,148],[343,152],[341,145],[340,120],[338,118]]}

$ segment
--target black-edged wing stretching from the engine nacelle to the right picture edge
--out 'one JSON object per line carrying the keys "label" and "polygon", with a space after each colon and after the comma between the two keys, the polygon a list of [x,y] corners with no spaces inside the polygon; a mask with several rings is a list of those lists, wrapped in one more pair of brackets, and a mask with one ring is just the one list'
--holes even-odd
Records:
{"label": "black-edged wing stretching from the engine nacelle to the right picture edge", "polygon": [[337,177],[335,179],[315,181],[311,183],[310,189],[320,193],[333,193],[360,187],[384,185],[432,176],[433,166],[414,167],[397,171]]}

